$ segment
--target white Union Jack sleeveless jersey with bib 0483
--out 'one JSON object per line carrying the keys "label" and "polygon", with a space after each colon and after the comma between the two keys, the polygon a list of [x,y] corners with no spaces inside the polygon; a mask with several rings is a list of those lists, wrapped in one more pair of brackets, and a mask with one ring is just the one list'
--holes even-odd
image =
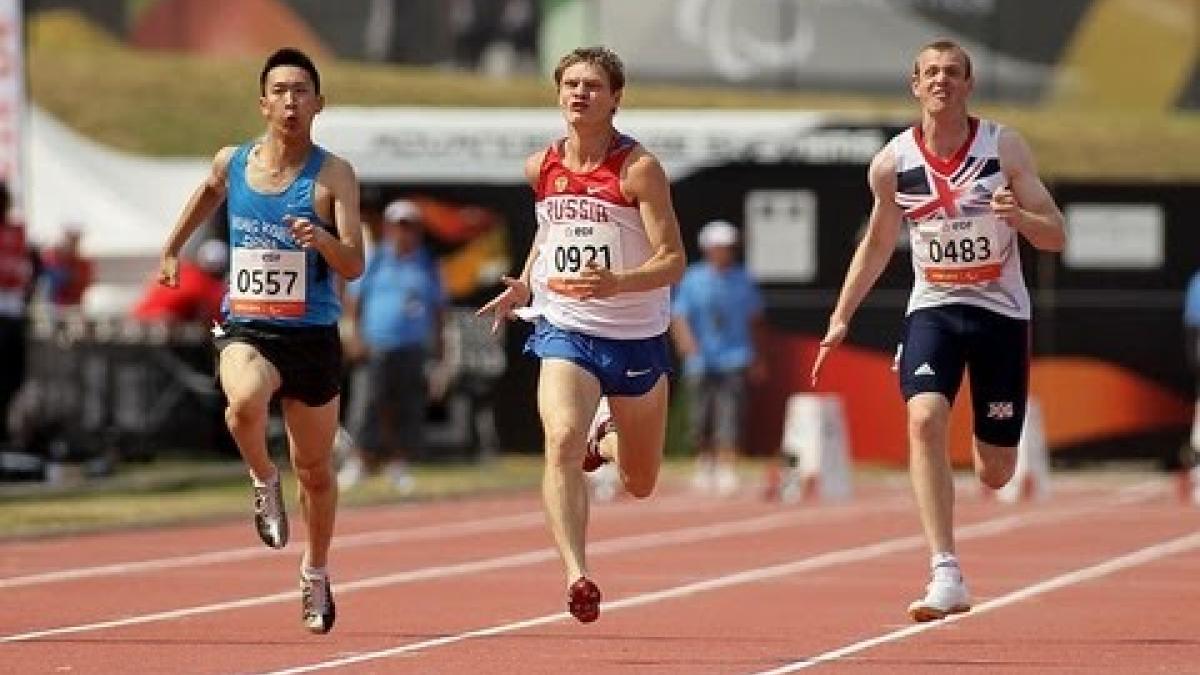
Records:
{"label": "white Union Jack sleeveless jersey with bib 0483", "polygon": [[919,126],[889,143],[896,163],[896,204],[912,245],[913,287],[906,313],[938,305],[976,305],[1030,318],[1016,231],[991,210],[1007,184],[1000,168],[1001,126],[971,118],[953,157],[925,150]]}

